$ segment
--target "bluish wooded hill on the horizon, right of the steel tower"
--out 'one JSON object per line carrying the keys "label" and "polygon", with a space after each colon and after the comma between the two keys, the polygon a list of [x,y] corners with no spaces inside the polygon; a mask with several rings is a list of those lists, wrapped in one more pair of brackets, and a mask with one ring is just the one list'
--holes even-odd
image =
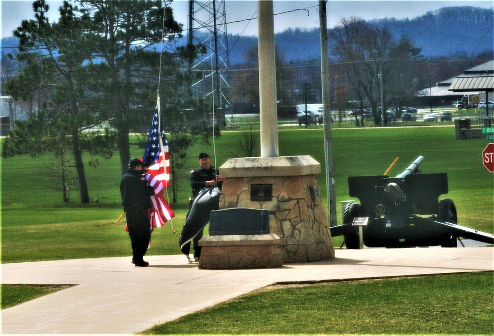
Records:
{"label": "bluish wooded hill on the horizon, right of the steel tower", "polygon": [[[408,35],[415,46],[421,47],[426,57],[471,57],[484,51],[494,50],[494,10],[472,6],[444,7],[425,15],[398,20],[386,18],[371,22],[388,28],[398,40]],[[275,35],[278,48],[286,62],[319,59],[319,29],[288,29]],[[229,35],[230,63],[244,63],[244,53],[257,44],[256,37]],[[331,57],[331,56],[330,56]]]}

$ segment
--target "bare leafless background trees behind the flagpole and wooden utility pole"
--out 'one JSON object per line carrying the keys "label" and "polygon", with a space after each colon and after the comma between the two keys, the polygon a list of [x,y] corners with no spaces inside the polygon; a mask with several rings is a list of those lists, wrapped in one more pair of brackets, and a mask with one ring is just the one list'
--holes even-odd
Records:
{"label": "bare leafless background trees behind the flagpole and wooden utility pole", "polygon": [[[379,108],[397,107],[410,101],[417,90],[417,62],[422,60],[420,48],[407,36],[396,40],[390,31],[360,18],[341,19],[329,32],[329,44],[334,59],[330,62],[331,102],[340,113],[356,101],[354,109],[370,108],[375,124],[381,124]],[[320,103],[320,63],[297,67],[287,63],[276,49],[277,94],[281,106]],[[259,106],[257,47],[246,52],[247,62],[235,71],[231,82],[231,101]],[[245,70],[247,69],[247,70]],[[356,115],[357,116],[357,115]],[[363,113],[360,113],[363,117]],[[362,121],[357,119],[357,125]],[[386,122],[386,120],[384,120]]]}

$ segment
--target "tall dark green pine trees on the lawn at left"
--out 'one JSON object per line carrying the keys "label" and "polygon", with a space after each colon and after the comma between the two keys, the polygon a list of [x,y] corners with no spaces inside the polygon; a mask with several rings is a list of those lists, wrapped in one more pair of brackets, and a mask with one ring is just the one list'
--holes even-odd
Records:
{"label": "tall dark green pine trees on the lawn at left", "polygon": [[[166,130],[172,134],[168,139],[172,176],[183,165],[186,148],[207,141],[211,129],[191,125],[192,116],[183,113],[186,109],[204,113],[208,108],[206,101],[190,99],[190,74],[183,70],[202,46],[174,46],[182,25],[164,1],[76,3],[64,1],[58,21],[50,22],[49,5],[36,0],[34,19],[22,21],[13,33],[19,48],[10,59],[22,70],[4,90],[13,99],[35,101],[40,108],[27,121],[16,122],[2,143],[2,157],[53,153],[61,171],[75,167],[81,202],[88,203],[83,153],[109,158],[118,151],[124,174],[130,159],[129,134],[139,126],[149,127],[157,93],[168,121]],[[102,130],[86,132],[95,127]],[[66,176],[61,179],[64,202]]]}

